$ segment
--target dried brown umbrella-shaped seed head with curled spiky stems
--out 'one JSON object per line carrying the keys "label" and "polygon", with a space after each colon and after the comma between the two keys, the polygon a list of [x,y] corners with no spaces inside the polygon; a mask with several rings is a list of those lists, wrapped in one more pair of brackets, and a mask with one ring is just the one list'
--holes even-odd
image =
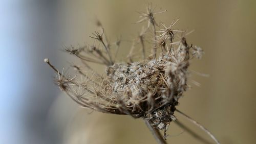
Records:
{"label": "dried brown umbrella-shaped seed head with curled spiky stems", "polygon": [[[126,62],[116,61],[120,40],[115,43],[116,50],[113,50],[101,23],[98,22],[102,31],[95,31],[91,38],[96,39],[101,46],[66,48],[67,52],[83,63],[83,67],[72,65],[78,72],[76,76],[70,76],[63,69],[59,71],[49,59],[45,59],[56,72],[55,83],[83,108],[144,119],[158,143],[166,143],[169,124],[177,120],[174,112],[185,116],[219,143],[207,129],[176,109],[179,99],[188,88],[189,62],[193,58],[200,59],[202,49],[187,43],[185,31],[173,29],[178,20],[173,21],[168,27],[163,23],[158,25],[154,16],[165,11],[154,12],[151,4],[146,10],[145,13],[141,13],[141,19],[137,23],[148,21],[147,28],[142,29],[139,37],[133,41]],[[151,55],[147,56],[145,34],[151,26],[153,47]],[[159,31],[156,30],[156,26],[161,27]],[[133,51],[138,43],[142,47],[143,59],[135,61]],[[157,50],[160,52],[157,53]],[[105,73],[96,73],[88,63],[104,65]],[[184,128],[184,125],[180,126]],[[164,130],[163,136],[159,130]]]}

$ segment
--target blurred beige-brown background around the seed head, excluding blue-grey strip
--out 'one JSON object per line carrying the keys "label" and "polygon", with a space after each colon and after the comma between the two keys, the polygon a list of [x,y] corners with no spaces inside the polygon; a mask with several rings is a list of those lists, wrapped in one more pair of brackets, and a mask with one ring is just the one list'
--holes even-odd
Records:
{"label": "blurred beige-brown background around the seed head, excluding blue-grey strip", "polygon": [[[190,69],[210,77],[193,75],[191,79],[201,86],[192,85],[193,88],[184,93],[178,109],[208,128],[221,143],[254,143],[255,1],[59,1],[62,41],[74,45],[92,43],[89,35],[96,29],[94,21],[98,18],[112,42],[122,35],[124,41],[118,55],[122,58],[129,51],[129,40],[142,26],[133,23],[139,19],[136,11],[145,11],[150,2],[158,5],[157,10],[167,9],[156,16],[157,21],[168,25],[180,18],[176,28],[195,29],[187,40],[205,51],[203,58],[194,60]],[[65,62],[69,61],[70,57],[66,58],[63,58]],[[96,66],[96,69],[102,68]],[[89,112],[66,96],[57,97],[49,112],[49,125],[59,128],[62,143],[156,143],[141,119]],[[185,125],[210,140],[197,127],[176,115]],[[186,131],[182,132],[171,124],[168,134],[172,136],[168,137],[168,142],[200,143]]]}

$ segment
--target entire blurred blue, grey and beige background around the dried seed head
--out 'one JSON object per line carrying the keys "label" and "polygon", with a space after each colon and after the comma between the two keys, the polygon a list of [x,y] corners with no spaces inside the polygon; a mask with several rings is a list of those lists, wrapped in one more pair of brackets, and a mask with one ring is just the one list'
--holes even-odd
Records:
{"label": "entire blurred blue, grey and beige background around the dried seed head", "polygon": [[[156,143],[142,119],[91,112],[77,106],[56,85],[48,57],[57,68],[76,62],[62,45],[92,44],[99,19],[114,42],[122,36],[118,57],[147,23],[135,25],[148,3],[157,21],[194,30],[187,36],[205,52],[190,69],[201,84],[184,93],[178,108],[214,133],[221,143],[255,143],[256,1],[29,1],[0,2],[0,143]],[[100,70],[102,67],[95,65]],[[179,121],[205,139],[199,128]],[[203,143],[170,124],[169,143]]]}

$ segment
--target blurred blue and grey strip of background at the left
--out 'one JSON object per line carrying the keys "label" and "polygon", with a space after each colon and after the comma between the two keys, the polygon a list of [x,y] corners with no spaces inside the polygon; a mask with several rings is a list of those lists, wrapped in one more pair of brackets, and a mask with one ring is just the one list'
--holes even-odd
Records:
{"label": "blurred blue and grey strip of background at the left", "polygon": [[56,1],[1,1],[0,19],[0,143],[58,143],[47,126],[56,87],[43,62],[58,51]]}

